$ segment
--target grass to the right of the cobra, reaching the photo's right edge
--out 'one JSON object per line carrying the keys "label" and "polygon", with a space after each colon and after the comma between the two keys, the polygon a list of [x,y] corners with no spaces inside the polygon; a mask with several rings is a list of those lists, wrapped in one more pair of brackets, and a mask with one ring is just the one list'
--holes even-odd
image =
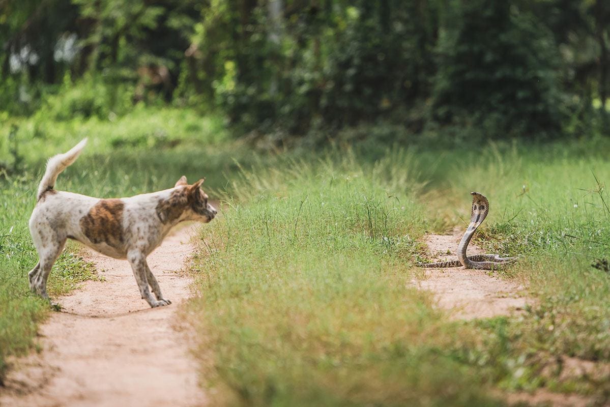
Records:
{"label": "grass to the right of the cobra, reaching the photo's right edge", "polygon": [[[445,170],[448,195],[481,190],[492,212],[481,237],[492,252],[523,257],[510,276],[528,283],[537,303],[506,320],[520,361],[512,388],[610,394],[610,180],[608,142],[536,149],[491,146],[473,164]],[[464,173],[476,177],[452,176]],[[468,204],[465,203],[465,208]],[[592,263],[599,267],[592,267]],[[566,362],[569,361],[569,362]],[[575,369],[575,366],[577,368]]]}

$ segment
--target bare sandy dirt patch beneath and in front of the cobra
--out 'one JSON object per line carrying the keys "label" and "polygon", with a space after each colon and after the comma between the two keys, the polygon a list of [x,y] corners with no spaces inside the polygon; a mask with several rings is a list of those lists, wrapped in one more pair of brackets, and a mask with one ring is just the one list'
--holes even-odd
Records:
{"label": "bare sandy dirt patch beneath and in front of the cobra", "polygon": [[[426,236],[428,250],[433,261],[456,260],[456,249],[463,230],[451,235],[431,234]],[[468,255],[482,253],[473,245],[468,246]],[[440,308],[451,313],[456,319],[489,318],[508,315],[526,305],[523,286],[506,281],[486,270],[464,270],[453,268],[424,268],[423,278],[413,283],[431,291]]]}

